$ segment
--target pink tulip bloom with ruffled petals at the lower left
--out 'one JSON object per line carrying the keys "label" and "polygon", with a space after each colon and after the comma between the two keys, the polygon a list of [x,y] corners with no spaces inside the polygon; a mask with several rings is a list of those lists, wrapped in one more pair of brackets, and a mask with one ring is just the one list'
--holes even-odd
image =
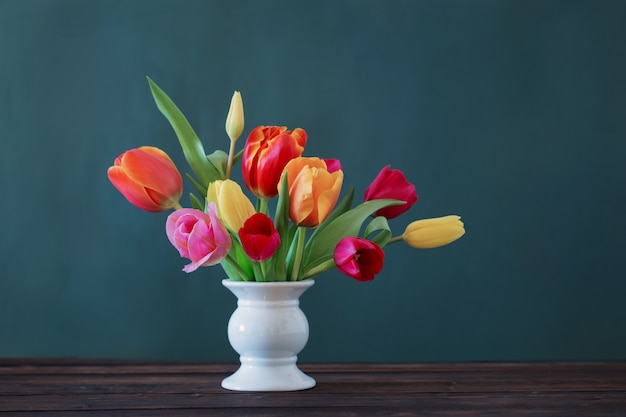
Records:
{"label": "pink tulip bloom with ruffled petals at the lower left", "polygon": [[183,268],[185,272],[220,263],[232,244],[217,217],[215,203],[209,203],[207,213],[189,208],[176,210],[167,218],[165,232],[180,256],[191,260]]}

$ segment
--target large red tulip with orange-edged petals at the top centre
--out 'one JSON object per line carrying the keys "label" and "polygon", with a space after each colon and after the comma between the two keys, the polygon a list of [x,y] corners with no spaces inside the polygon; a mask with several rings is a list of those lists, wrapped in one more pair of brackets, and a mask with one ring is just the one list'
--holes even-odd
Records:
{"label": "large red tulip with orange-edged petals at the top centre", "polygon": [[259,126],[252,130],[241,160],[246,187],[259,198],[276,197],[283,168],[302,155],[306,140],[306,132],[300,128]]}

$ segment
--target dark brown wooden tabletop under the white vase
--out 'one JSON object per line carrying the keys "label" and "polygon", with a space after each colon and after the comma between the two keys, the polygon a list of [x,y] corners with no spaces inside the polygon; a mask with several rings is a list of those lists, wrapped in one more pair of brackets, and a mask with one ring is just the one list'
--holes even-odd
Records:
{"label": "dark brown wooden tabletop under the white vase", "polygon": [[301,364],[317,386],[220,387],[235,364],[0,359],[0,415],[626,416],[626,363]]}

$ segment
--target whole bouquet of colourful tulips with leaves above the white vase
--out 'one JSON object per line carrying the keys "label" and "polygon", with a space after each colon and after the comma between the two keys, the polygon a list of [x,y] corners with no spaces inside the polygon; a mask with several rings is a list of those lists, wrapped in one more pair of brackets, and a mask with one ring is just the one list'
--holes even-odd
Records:
{"label": "whole bouquet of colourful tulips with leaves above the white vase", "polygon": [[[108,177],[140,209],[174,210],[165,231],[181,257],[191,261],[185,272],[220,264],[232,280],[296,281],[336,267],[356,280],[371,281],[383,267],[385,245],[404,241],[414,248],[435,248],[465,233],[460,217],[450,215],[416,220],[393,236],[388,219],[417,201],[415,186],[387,165],[367,187],[362,203],[353,207],[354,188],[339,201],[341,164],[303,156],[304,129],[258,126],[237,152],[244,129],[239,92],[226,117],[229,152],[207,155],[178,107],[150,78],[148,83],[178,137],[194,174],[187,177],[199,196],[191,193],[191,207],[181,206],[182,176],[164,151],[151,146],[117,157]],[[256,204],[230,178],[238,161]]]}

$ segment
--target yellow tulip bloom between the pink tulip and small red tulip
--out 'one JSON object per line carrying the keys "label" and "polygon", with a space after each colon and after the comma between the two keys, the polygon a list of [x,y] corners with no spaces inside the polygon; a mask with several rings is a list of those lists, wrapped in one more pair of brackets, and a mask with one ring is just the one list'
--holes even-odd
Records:
{"label": "yellow tulip bloom between the pink tulip and small red tulip", "polygon": [[215,203],[217,215],[226,227],[238,232],[244,222],[256,213],[252,202],[233,180],[217,180],[209,184],[207,204]]}

